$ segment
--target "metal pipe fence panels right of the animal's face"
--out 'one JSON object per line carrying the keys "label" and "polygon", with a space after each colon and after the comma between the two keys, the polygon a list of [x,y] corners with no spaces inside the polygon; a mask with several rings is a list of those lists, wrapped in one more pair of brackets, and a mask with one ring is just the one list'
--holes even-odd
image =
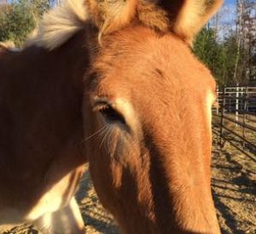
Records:
{"label": "metal pipe fence panels right of the animal's face", "polygon": [[218,88],[212,108],[212,132],[256,161],[256,86]]}

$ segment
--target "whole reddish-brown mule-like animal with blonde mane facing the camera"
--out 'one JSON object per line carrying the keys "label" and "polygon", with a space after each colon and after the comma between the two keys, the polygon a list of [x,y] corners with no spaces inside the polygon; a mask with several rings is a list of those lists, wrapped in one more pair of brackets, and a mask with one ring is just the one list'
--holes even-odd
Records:
{"label": "whole reddish-brown mule-like animal with blonde mane facing the camera", "polygon": [[25,49],[2,49],[0,220],[82,231],[88,159],[123,233],[219,233],[215,83],[189,45],[221,2],[67,0]]}

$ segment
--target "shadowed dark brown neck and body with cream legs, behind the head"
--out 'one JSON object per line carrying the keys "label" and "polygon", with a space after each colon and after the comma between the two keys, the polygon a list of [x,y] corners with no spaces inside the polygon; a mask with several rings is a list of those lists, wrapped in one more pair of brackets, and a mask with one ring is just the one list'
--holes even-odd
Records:
{"label": "shadowed dark brown neck and body with cream legs, behind the head", "polygon": [[46,233],[84,233],[73,194],[86,162],[80,84],[88,56],[75,45],[50,53],[0,45],[0,225],[37,220]]}

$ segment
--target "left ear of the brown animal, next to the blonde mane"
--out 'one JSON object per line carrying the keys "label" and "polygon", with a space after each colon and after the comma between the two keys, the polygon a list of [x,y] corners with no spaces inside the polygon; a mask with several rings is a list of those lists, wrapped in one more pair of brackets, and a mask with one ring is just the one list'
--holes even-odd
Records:
{"label": "left ear of the brown animal, next to the blonde mane", "polygon": [[100,35],[119,30],[134,18],[138,0],[85,0]]}

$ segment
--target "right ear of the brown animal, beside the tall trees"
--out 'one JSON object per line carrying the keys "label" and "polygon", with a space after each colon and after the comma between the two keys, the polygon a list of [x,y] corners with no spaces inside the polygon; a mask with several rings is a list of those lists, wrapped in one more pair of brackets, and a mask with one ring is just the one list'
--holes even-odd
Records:
{"label": "right ear of the brown animal, beside the tall trees", "polygon": [[222,3],[223,0],[163,0],[160,5],[168,13],[172,31],[192,43]]}

